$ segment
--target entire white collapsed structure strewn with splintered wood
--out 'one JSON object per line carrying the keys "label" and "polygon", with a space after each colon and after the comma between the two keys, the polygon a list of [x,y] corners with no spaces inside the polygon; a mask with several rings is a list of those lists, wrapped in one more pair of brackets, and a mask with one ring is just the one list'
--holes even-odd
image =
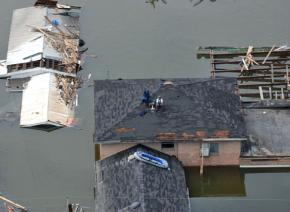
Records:
{"label": "entire white collapsed structure strewn with splintered wood", "polygon": [[7,60],[0,78],[23,92],[21,127],[70,126],[81,80],[80,7],[38,0],[13,12]]}

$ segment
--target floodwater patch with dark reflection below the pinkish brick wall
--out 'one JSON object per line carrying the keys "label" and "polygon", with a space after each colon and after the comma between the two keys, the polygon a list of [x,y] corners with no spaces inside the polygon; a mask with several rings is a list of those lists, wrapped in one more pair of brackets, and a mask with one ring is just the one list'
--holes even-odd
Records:
{"label": "floodwater patch with dark reflection below the pinkish brick wall", "polygon": [[191,211],[288,212],[289,169],[185,169]]}

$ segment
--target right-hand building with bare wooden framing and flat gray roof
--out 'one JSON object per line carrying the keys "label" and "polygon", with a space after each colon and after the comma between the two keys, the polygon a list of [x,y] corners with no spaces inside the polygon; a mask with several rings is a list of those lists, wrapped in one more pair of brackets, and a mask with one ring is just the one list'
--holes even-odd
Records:
{"label": "right-hand building with bare wooden framing and flat gray roof", "polygon": [[290,47],[199,47],[212,79],[233,77],[250,151],[241,167],[290,167]]}

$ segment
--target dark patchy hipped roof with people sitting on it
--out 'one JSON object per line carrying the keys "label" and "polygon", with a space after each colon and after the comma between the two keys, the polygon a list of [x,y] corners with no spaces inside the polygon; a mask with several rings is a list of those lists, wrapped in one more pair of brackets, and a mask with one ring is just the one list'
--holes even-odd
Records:
{"label": "dark patchy hipped roof with people sitting on it", "polygon": [[[162,133],[203,132],[204,137],[246,137],[235,79],[172,79],[95,81],[95,141],[156,140]],[[164,105],[151,112],[140,97],[149,90]]]}

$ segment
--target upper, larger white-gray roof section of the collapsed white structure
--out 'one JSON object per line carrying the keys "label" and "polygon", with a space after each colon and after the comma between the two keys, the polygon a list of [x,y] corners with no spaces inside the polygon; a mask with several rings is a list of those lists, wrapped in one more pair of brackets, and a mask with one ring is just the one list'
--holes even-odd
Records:
{"label": "upper, larger white-gray roof section of the collapsed white structure", "polygon": [[[42,57],[61,60],[61,55],[33,27],[49,27],[45,16],[60,21],[59,29],[66,34],[79,35],[79,10],[28,7],[14,10],[9,37],[7,65],[40,60]],[[52,32],[60,33],[51,27]],[[76,39],[76,44],[78,41]]]}

